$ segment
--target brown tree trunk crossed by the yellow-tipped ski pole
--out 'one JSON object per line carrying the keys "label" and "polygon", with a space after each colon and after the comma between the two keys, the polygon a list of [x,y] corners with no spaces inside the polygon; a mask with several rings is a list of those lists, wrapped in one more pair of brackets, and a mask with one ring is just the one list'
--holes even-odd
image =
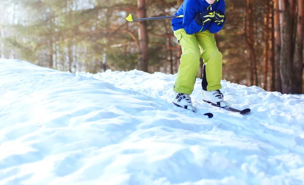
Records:
{"label": "brown tree trunk crossed by the yellow-tipped ski pole", "polygon": [[[146,17],[146,5],[145,0],[137,0],[137,17]],[[139,39],[139,70],[148,72],[148,34],[146,21],[138,21],[138,39]]]}

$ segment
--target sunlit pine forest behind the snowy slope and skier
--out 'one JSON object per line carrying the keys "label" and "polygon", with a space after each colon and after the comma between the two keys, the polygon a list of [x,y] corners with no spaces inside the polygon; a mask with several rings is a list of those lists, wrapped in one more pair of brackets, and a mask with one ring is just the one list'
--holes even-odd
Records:
{"label": "sunlit pine forest behind the snowy slope and skier", "polygon": [[[221,0],[220,0],[221,1]],[[0,54],[62,71],[177,72],[180,46],[171,16],[182,1],[0,0]],[[215,34],[223,79],[301,94],[304,0],[225,0]],[[202,61],[198,78],[202,77]]]}

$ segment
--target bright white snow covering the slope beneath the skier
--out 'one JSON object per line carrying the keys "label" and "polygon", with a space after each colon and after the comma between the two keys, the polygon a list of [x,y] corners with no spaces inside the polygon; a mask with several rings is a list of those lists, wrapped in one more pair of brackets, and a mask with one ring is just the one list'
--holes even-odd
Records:
{"label": "bright white snow covering the slope beneath the skier", "polygon": [[161,72],[0,59],[0,76],[0,184],[304,184],[304,95],[223,80],[243,116],[204,103],[197,79],[192,113]]}

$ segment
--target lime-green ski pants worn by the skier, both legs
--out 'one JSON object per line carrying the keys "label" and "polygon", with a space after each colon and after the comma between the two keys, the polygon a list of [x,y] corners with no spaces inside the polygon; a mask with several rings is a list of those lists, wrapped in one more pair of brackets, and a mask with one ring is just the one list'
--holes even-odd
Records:
{"label": "lime-green ski pants worn by the skier, both legs", "polygon": [[218,51],[214,35],[209,30],[187,34],[184,29],[174,31],[182,54],[173,91],[191,94],[200,66],[200,58],[204,59],[202,88],[212,91],[221,89],[222,54]]}

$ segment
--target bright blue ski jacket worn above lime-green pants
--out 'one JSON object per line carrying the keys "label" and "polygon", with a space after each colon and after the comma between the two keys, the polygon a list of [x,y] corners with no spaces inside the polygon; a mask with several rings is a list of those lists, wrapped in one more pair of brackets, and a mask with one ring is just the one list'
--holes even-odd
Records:
{"label": "bright blue ski jacket worn above lime-green pants", "polygon": [[206,0],[184,0],[174,15],[183,15],[181,18],[173,18],[171,21],[173,31],[183,28],[187,34],[194,34],[209,30],[216,33],[222,29],[223,25],[218,26],[214,22],[209,22],[203,26],[198,25],[194,18],[205,10],[222,11],[225,13],[224,0],[216,0],[214,4],[209,5]]}

